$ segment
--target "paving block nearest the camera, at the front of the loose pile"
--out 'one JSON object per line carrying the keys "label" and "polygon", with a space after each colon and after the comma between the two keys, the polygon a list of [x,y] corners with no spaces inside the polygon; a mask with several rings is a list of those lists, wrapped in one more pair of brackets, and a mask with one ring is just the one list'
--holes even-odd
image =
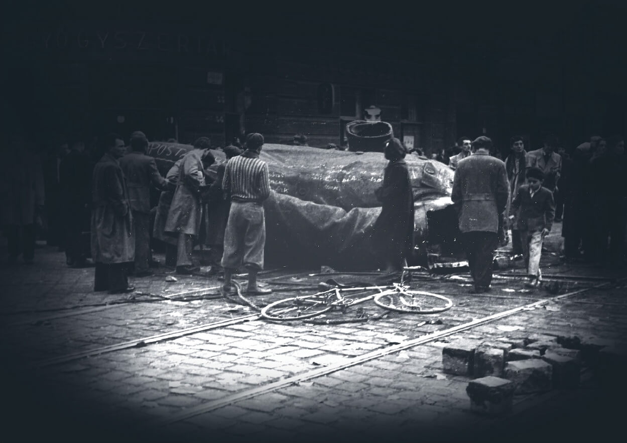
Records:
{"label": "paving block nearest the camera, at the front of the loose pile", "polygon": [[505,415],[512,410],[514,384],[498,377],[472,380],[466,386],[470,410],[484,415]]}

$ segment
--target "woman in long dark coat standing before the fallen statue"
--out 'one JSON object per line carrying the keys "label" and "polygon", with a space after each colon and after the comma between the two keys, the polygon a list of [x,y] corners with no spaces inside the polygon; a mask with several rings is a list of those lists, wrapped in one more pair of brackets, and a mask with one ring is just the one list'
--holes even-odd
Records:
{"label": "woman in long dark coat standing before the fallen statue", "polygon": [[383,186],[375,191],[381,215],[374,225],[377,249],[388,272],[403,270],[414,248],[414,196],[405,163],[406,149],[398,138],[386,143]]}

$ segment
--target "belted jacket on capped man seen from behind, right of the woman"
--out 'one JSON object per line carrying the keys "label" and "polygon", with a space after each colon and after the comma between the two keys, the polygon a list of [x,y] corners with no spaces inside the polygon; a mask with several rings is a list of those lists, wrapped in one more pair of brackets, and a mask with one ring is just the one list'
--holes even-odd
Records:
{"label": "belted jacket on capped man seen from behind, right of the woman", "polygon": [[502,160],[484,153],[460,160],[451,191],[460,231],[497,233],[499,217],[507,205],[507,191],[507,172]]}

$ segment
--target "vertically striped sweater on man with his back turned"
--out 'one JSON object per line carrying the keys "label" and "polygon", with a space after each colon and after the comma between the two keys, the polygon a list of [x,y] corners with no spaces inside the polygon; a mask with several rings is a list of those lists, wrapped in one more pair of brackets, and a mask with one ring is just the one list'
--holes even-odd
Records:
{"label": "vertically striped sweater on man with his back turned", "polygon": [[235,156],[226,163],[222,188],[233,201],[261,203],[270,196],[268,165],[258,157]]}

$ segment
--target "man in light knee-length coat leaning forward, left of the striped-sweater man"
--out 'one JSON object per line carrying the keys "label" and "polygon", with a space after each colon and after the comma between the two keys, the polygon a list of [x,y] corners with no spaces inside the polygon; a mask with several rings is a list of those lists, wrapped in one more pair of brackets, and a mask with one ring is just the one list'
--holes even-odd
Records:
{"label": "man in light knee-length coat leaning forward, left of the striped-sweater man", "polygon": [[167,214],[165,230],[178,236],[176,272],[179,274],[199,270],[192,262],[192,250],[194,237],[200,233],[203,215],[200,202],[200,192],[205,186],[203,170],[215,161],[210,147],[211,141],[201,137],[194,142],[194,149],[182,158],[179,179]]}

